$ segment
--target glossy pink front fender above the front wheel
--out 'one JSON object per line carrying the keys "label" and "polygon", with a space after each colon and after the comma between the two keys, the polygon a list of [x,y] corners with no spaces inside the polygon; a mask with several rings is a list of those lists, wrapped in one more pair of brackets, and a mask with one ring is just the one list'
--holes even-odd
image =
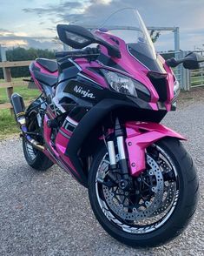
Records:
{"label": "glossy pink front fender above the front wheel", "polygon": [[126,132],[128,161],[133,176],[138,176],[146,169],[145,150],[149,145],[165,137],[186,140],[179,133],[156,123],[127,122]]}

